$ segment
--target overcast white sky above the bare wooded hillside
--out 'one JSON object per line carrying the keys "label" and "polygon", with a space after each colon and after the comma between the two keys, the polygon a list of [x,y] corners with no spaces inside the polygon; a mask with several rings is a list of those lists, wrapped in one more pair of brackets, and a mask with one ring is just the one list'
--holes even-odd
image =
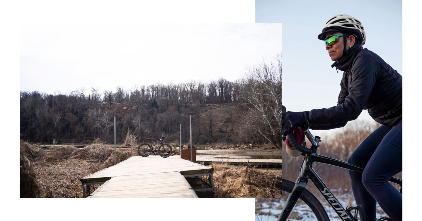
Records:
{"label": "overcast white sky above the bare wooded hillside", "polygon": [[20,90],[235,80],[281,53],[281,24],[23,25],[20,50]]}

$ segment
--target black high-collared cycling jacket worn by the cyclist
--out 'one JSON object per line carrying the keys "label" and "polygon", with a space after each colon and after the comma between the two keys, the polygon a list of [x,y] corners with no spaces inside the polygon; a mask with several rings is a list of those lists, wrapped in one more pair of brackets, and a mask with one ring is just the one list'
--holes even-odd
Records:
{"label": "black high-collared cycling jacket worn by the cyclist", "polygon": [[402,76],[375,53],[362,47],[333,64],[344,71],[337,106],[309,112],[310,128],[345,126],[368,109],[376,122],[393,127],[402,121]]}

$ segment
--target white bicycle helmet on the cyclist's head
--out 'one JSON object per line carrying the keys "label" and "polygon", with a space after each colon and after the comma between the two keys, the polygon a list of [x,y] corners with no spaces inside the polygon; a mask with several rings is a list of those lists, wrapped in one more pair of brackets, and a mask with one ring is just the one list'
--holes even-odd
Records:
{"label": "white bicycle helmet on the cyclist's head", "polygon": [[322,33],[318,35],[318,39],[324,41],[325,34],[333,29],[343,33],[354,34],[360,42],[360,45],[365,44],[366,35],[363,30],[363,25],[355,17],[346,14],[338,14],[331,17],[325,22],[324,27],[322,27]]}

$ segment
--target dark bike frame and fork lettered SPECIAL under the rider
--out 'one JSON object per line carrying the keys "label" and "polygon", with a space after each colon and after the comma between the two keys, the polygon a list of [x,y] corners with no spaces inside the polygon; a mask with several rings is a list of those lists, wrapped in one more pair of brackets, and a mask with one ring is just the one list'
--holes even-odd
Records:
{"label": "dark bike frame and fork lettered SPECIAL under the rider", "polygon": [[[306,136],[309,138],[311,135],[309,131],[305,131]],[[311,136],[312,137],[312,136]],[[313,137],[312,137],[313,138]],[[310,139],[311,140],[311,139]],[[317,150],[318,142],[311,140],[312,147],[311,149]],[[349,164],[344,161],[340,161],[331,157],[322,156],[317,153],[312,153],[310,155],[305,155],[305,160],[303,161],[302,166],[300,167],[300,174],[298,180],[296,180],[295,187],[293,188],[292,192],[290,193],[287,201],[284,205],[283,210],[279,216],[278,221],[286,221],[287,217],[289,216],[290,212],[292,211],[293,207],[295,206],[296,202],[299,199],[299,196],[302,194],[303,190],[308,183],[308,179],[311,179],[312,183],[318,188],[319,192],[325,197],[328,204],[333,207],[334,211],[343,221],[353,221],[353,219],[349,216],[349,213],[346,212],[344,207],[338,202],[335,196],[331,193],[330,189],[325,185],[325,183],[321,180],[318,176],[317,172],[312,168],[314,163],[322,163],[328,164],[332,166],[338,166],[340,168],[348,169],[355,172],[363,172],[363,168],[360,166],[356,166],[353,164]],[[398,179],[395,177],[390,178],[388,180],[392,183],[397,183],[400,185],[399,191],[402,193],[402,179]]]}

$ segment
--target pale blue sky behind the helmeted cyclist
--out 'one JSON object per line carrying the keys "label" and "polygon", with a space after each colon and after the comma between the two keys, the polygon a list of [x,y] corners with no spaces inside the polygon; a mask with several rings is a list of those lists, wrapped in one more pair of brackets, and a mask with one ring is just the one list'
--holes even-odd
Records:
{"label": "pale blue sky behind the helmeted cyclist", "polygon": [[[375,52],[403,75],[401,1],[299,2],[256,0],[255,5],[256,22],[283,23],[282,100],[288,111],[308,111],[337,104],[343,72],[337,73],[331,68],[333,61],[324,42],[317,38],[325,22],[335,14],[348,14],[359,19],[366,32],[367,42],[363,47]],[[301,89],[296,90],[298,87]],[[372,118],[367,110],[363,110],[358,120]]]}

